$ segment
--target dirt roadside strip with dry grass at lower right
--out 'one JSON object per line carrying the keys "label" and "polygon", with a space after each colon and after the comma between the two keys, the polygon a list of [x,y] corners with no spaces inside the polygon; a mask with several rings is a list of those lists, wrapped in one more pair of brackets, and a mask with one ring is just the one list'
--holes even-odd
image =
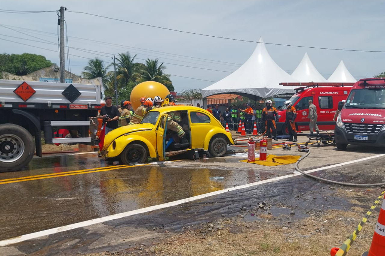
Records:
{"label": "dirt roadside strip with dry grass at lower right", "polygon": [[[243,210],[234,218],[223,218],[212,223],[188,226],[182,233],[170,234],[156,241],[132,245],[122,251],[78,254],[83,256],[110,255],[330,255],[330,249],[340,247],[353,233],[383,188],[337,189],[338,196],[347,196],[354,206],[348,210],[311,211],[307,218],[292,215],[275,217],[258,213],[258,209]],[[371,202],[363,202],[371,198]],[[258,206],[257,206],[258,207]],[[285,207],[281,205],[281,207]],[[368,251],[377,223],[380,205],[359,233],[348,251],[350,256],[361,256]],[[260,212],[260,211],[259,211]],[[250,221],[250,216],[255,220]]]}

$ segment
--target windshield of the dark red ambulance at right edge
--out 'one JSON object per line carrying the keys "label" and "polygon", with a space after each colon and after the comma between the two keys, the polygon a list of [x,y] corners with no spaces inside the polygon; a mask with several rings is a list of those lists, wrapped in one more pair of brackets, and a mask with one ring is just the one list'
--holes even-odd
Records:
{"label": "windshield of the dark red ambulance at right edge", "polygon": [[385,88],[352,90],[345,108],[385,108]]}

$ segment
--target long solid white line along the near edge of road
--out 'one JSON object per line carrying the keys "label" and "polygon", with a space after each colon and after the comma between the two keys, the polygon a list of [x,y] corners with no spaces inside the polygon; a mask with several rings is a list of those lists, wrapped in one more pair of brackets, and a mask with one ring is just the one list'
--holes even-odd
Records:
{"label": "long solid white line along the near edge of road", "polygon": [[[369,156],[369,157],[365,157],[365,158],[361,158],[361,159],[357,159],[357,160],[353,160],[353,161],[339,163],[339,164],[336,164],[336,165],[320,167],[320,168],[308,170],[308,171],[305,171],[305,172],[306,173],[312,173],[312,172],[315,172],[315,171],[326,170],[326,169],[330,169],[330,168],[334,168],[334,167],[338,167],[338,166],[342,166],[342,165],[349,165],[351,163],[357,163],[357,162],[361,162],[361,161],[366,161],[366,160],[370,160],[370,159],[373,159],[373,158],[378,158],[378,157],[381,157],[381,156],[385,156],[385,154]],[[58,227],[58,228],[46,229],[46,230],[42,230],[42,231],[39,231],[39,232],[25,234],[25,235],[22,235],[22,236],[17,236],[15,238],[10,238],[10,239],[2,240],[2,241],[0,241],[0,246],[7,246],[7,245],[10,245],[10,244],[20,243],[22,241],[26,241],[26,240],[29,240],[29,239],[40,238],[42,236],[47,236],[47,235],[50,235],[50,234],[56,234],[56,233],[59,233],[59,232],[68,231],[68,230],[72,230],[72,229],[75,229],[75,228],[82,228],[82,227],[85,227],[85,226],[90,226],[90,225],[102,223],[102,222],[105,222],[105,221],[112,221],[114,219],[120,219],[120,218],[124,218],[124,217],[128,217],[128,216],[132,216],[132,215],[135,215],[135,214],[147,213],[149,211],[163,209],[163,208],[167,208],[167,207],[171,207],[171,206],[177,206],[179,204],[188,203],[188,202],[199,200],[199,199],[202,199],[202,198],[208,198],[209,196],[215,196],[215,195],[223,194],[223,193],[226,193],[226,192],[229,192],[229,191],[240,190],[240,189],[243,189],[243,188],[249,188],[249,187],[252,187],[252,186],[261,185],[261,184],[265,184],[265,183],[270,183],[270,182],[273,182],[273,181],[284,180],[284,179],[292,178],[292,177],[299,176],[299,175],[301,175],[301,173],[297,172],[297,173],[293,173],[293,174],[289,174],[289,175],[285,175],[285,176],[271,178],[271,179],[268,179],[268,180],[257,181],[257,182],[253,182],[253,183],[249,183],[249,184],[245,184],[245,185],[241,185],[241,186],[236,186],[236,187],[232,187],[232,188],[226,188],[226,189],[223,189],[223,190],[214,191],[214,192],[211,192],[211,193],[201,194],[199,196],[193,196],[193,197],[190,197],[190,198],[185,198],[185,199],[181,199],[181,200],[177,200],[177,201],[173,201],[173,202],[169,202],[169,203],[158,204],[158,205],[149,206],[149,207],[146,207],[146,208],[136,209],[136,210],[133,210],[133,211],[126,211],[125,213],[117,213],[117,214],[113,214],[113,215],[110,215],[110,216],[105,216],[105,217],[101,217],[101,218],[97,218],[97,219],[90,219],[88,221],[82,221],[82,222],[79,222],[79,223],[74,223],[74,224],[69,224],[69,225],[66,225],[66,226],[61,226],[61,227]]]}

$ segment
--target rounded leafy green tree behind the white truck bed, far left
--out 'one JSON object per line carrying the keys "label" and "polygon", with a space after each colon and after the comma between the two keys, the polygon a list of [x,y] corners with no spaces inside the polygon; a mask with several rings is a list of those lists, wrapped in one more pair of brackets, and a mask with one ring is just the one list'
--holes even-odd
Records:
{"label": "rounded leafy green tree behind the white truck bed, far left", "polygon": [[0,54],[0,72],[6,71],[14,75],[27,75],[42,68],[52,65],[42,55],[23,53],[23,54]]}

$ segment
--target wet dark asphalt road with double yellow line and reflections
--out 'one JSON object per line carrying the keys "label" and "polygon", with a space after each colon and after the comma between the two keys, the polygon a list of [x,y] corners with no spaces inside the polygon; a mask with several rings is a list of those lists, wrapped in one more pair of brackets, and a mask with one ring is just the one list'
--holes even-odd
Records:
{"label": "wet dark asphalt road with double yellow line and reflections", "polygon": [[[183,165],[179,165],[181,162],[173,162],[143,166],[109,166],[104,160],[98,159],[96,154],[35,158],[29,166],[30,170],[1,174],[0,240],[290,173],[253,168],[241,172],[234,168],[199,165],[221,161],[234,163],[238,160],[210,158],[201,159],[200,162],[183,161]],[[373,161],[376,168],[383,166],[383,163],[385,161],[382,159]],[[353,165],[355,170],[367,167],[367,164],[362,163]],[[338,170],[340,169],[331,170],[328,176],[335,180],[349,179],[349,175]],[[357,172],[355,173],[353,180],[357,180]],[[364,181],[381,179],[373,175],[375,174],[367,178],[360,177]],[[224,179],[210,179],[214,176],[223,176]],[[290,215],[293,209],[300,209],[296,213],[298,218],[311,211],[351,206],[345,198],[330,196],[333,194],[332,190],[333,186],[320,185],[315,180],[298,176],[181,206],[78,228],[44,239],[25,241],[12,247],[13,253],[9,248],[0,248],[0,255],[29,254],[37,251],[44,252],[45,255],[56,255],[63,251],[85,252],[122,244],[127,247],[123,237],[125,240],[141,235],[154,238],[167,229],[179,232],[186,226],[235,215],[241,207],[253,210],[262,201],[271,205],[269,211],[276,216]],[[279,207],[276,203],[278,201],[285,207]],[[257,209],[258,207],[255,210]],[[252,217],[247,215],[246,218]],[[72,243],[77,245],[72,246]]]}

